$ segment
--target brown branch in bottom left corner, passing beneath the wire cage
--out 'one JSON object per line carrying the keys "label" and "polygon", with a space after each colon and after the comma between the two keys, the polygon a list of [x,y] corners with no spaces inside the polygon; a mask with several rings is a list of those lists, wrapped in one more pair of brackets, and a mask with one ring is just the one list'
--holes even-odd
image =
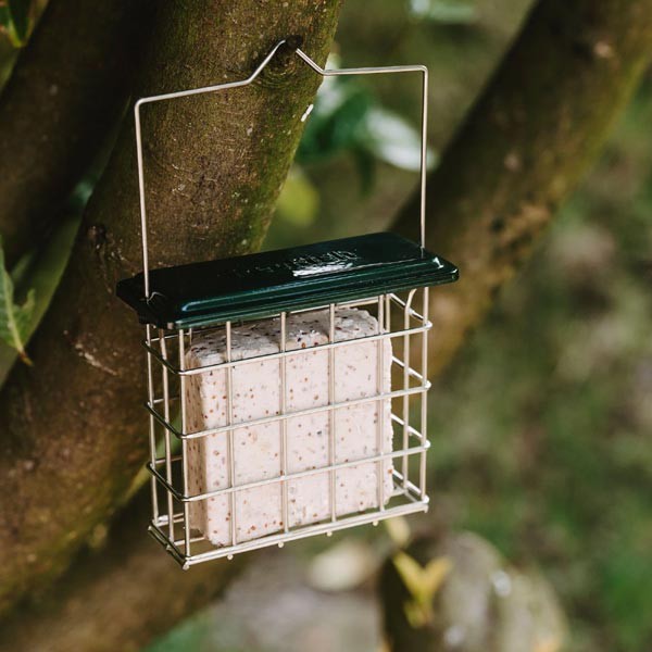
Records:
{"label": "brown branch in bottom left corner, passing beneath the wire cage", "polygon": [[[0,650],[140,650],[220,594],[242,567],[242,557],[180,570],[145,534],[149,503],[145,491],[108,540],[85,551],[29,617],[13,614],[0,630]],[[98,529],[101,537],[103,528]]]}

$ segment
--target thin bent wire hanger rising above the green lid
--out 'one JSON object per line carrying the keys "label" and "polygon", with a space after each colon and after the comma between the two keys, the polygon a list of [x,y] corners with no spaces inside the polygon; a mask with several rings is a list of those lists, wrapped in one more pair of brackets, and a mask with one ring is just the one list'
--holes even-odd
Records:
{"label": "thin bent wire hanger rising above the green lid", "polygon": [[[298,41],[293,41],[298,42]],[[292,45],[293,45],[292,42]],[[189,90],[180,90],[177,92],[167,92],[158,96],[150,96],[147,98],[140,98],[134,105],[134,118],[136,123],[136,153],[138,160],[138,190],[140,197],[140,228],[142,236],[142,273],[145,278],[145,297],[149,301],[152,293],[150,293],[150,278],[149,278],[149,250],[147,239],[147,206],[145,200],[145,170],[142,160],[142,133],[140,127],[140,108],[143,104],[151,104],[153,102],[161,102],[165,100],[174,100],[177,98],[185,98],[193,95],[201,95],[206,92],[215,92],[220,90],[228,90],[231,88],[240,88],[248,86],[256,79],[256,77],[265,70],[267,64],[274,59],[274,55],[278,52],[281,46],[291,47],[288,40],[283,39],[272,48],[269,53],[263,59],[260,65],[253,71],[253,73],[246,79],[239,82],[228,82],[226,84],[217,84],[214,86],[203,86],[201,88],[192,88]],[[392,65],[381,67],[358,67],[358,68],[339,68],[328,70],[321,67],[315,63],[303,50],[296,47],[293,48],[294,53],[306,63],[315,73],[323,77],[339,77],[347,75],[378,75],[378,74],[392,74],[392,73],[422,73],[423,75],[423,103],[422,103],[422,135],[421,135],[421,168],[419,168],[419,187],[421,187],[421,209],[419,209],[419,221],[421,221],[421,246],[425,248],[426,240],[426,166],[427,166],[427,123],[428,123],[428,68],[424,65]]]}

